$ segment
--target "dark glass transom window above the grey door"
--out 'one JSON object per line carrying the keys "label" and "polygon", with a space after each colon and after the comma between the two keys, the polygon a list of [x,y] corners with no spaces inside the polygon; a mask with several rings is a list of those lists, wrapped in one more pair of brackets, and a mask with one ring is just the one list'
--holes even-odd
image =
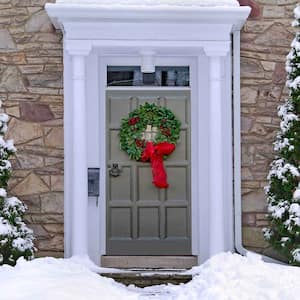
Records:
{"label": "dark glass transom window above the grey door", "polygon": [[155,67],[142,73],[139,66],[109,66],[107,86],[189,86],[189,67]]}

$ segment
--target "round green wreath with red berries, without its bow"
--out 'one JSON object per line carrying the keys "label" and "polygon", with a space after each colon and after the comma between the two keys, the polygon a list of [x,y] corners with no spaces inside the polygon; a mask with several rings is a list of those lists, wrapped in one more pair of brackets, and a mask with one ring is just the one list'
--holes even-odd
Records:
{"label": "round green wreath with red berries, without its bow", "polygon": [[[181,122],[170,109],[145,103],[121,120],[121,149],[127,152],[130,159],[139,161],[150,134],[154,144],[168,142],[176,145],[180,126]],[[150,127],[151,132],[147,131]]]}

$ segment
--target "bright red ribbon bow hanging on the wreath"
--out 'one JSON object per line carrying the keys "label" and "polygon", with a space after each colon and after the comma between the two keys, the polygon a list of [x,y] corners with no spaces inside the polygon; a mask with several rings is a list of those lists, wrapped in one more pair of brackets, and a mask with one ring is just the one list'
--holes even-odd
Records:
{"label": "bright red ribbon bow hanging on the wreath", "polygon": [[158,143],[147,142],[146,148],[142,153],[141,160],[151,162],[152,167],[152,183],[158,188],[167,188],[167,173],[164,168],[163,158],[165,155],[171,154],[176,146],[168,142]]}

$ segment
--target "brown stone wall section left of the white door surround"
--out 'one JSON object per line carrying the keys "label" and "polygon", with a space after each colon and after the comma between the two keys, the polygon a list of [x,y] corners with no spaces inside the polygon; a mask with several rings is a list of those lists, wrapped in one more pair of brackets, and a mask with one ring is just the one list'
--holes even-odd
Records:
{"label": "brown stone wall section left of the white door surround", "polygon": [[11,117],[8,138],[18,148],[10,193],[29,208],[38,255],[62,256],[62,36],[46,2],[0,0],[0,99]]}

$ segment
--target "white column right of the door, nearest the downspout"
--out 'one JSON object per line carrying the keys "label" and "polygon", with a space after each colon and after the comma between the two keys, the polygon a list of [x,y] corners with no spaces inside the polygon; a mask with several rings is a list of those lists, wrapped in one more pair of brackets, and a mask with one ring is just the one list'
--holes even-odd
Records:
{"label": "white column right of the door, nearest the downspout", "polygon": [[[225,251],[222,125],[222,63],[227,51],[205,49],[209,56],[209,255]],[[228,45],[226,49],[229,50]]]}

